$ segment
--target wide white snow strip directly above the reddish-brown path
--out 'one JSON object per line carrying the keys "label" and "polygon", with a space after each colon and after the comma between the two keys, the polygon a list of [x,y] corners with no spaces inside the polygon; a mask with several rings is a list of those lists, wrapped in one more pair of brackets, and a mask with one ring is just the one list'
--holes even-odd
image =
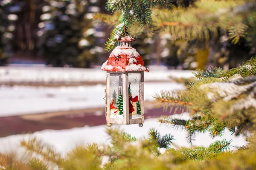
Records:
{"label": "wide white snow strip directly above the reddish-brown path", "polygon": [[[151,100],[161,90],[183,89],[175,82],[145,83],[145,100]],[[0,86],[0,116],[70,111],[105,107],[105,85],[77,87]]]}

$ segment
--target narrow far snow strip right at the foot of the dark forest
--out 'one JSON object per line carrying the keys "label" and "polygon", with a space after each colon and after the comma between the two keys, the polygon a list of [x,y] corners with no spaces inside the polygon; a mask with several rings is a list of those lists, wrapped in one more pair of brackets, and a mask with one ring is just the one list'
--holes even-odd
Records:
{"label": "narrow far snow strip right at the foot of the dark forest", "polygon": [[[169,80],[172,77],[193,77],[192,71],[166,70],[152,67],[145,72],[145,81]],[[0,67],[0,82],[105,82],[106,71],[99,68]]]}

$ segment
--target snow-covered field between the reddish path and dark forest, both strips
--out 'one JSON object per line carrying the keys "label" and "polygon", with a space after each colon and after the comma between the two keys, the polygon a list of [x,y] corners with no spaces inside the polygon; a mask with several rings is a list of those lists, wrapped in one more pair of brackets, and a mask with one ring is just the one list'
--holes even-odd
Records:
{"label": "snow-covered field between the reddish path and dark forest, both strips", "polygon": [[[192,77],[193,74],[191,71],[153,67],[149,73],[145,72],[145,100],[151,100],[161,90],[184,88],[182,84],[175,82],[157,82],[169,80],[169,76]],[[105,71],[96,68],[0,67],[0,82],[104,82],[105,79]],[[104,89],[105,85],[101,84],[55,88],[0,86],[0,116],[104,107]]]}

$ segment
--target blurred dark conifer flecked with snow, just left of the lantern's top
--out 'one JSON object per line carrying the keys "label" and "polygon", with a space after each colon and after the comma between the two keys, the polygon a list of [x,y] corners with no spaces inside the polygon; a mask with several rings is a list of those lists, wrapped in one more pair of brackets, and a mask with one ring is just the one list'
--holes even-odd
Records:
{"label": "blurred dark conifer flecked with snow, just left of the lantern's top", "polygon": [[99,1],[45,1],[48,5],[42,8],[44,14],[37,33],[40,54],[54,66],[90,67],[97,54],[104,51],[96,45],[101,32],[90,20],[95,9],[100,11]]}

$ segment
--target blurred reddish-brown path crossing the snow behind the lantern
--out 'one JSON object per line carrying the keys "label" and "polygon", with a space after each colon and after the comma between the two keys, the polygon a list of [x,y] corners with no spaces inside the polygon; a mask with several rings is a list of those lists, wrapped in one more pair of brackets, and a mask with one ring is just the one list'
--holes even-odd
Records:
{"label": "blurred reddish-brown path crossing the snow behind the lantern", "polygon": [[[172,108],[171,113],[163,112],[163,108],[148,102],[145,107],[145,119],[156,118],[160,115],[179,114],[186,108]],[[21,115],[0,117],[0,137],[33,133],[46,129],[61,130],[73,127],[97,126],[106,124],[105,108],[86,109],[77,111],[64,111],[43,113],[35,115]]]}

